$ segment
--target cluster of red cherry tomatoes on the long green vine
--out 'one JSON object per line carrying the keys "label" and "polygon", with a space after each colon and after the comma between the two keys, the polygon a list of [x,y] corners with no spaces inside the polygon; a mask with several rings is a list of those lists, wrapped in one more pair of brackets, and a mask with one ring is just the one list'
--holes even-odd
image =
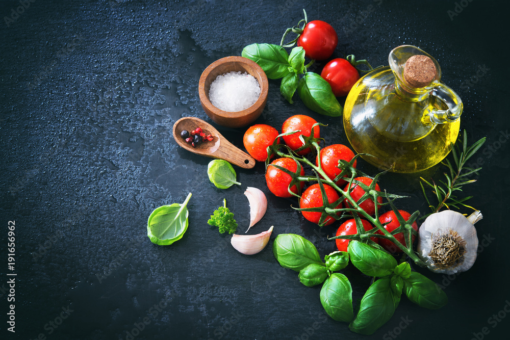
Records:
{"label": "cluster of red cherry tomatoes on the long green vine", "polygon": [[[282,139],[285,145],[295,152],[297,155],[307,155],[312,150],[310,147],[303,149],[303,141],[308,138],[319,139],[320,129],[319,125],[315,125],[317,121],[309,116],[295,115],[289,117],[282,125]],[[313,135],[312,135],[313,127]],[[299,131],[299,132],[298,132]],[[292,133],[296,132],[296,133]],[[301,137],[302,135],[302,137]],[[277,144],[280,143],[278,130],[274,127],[266,124],[256,124],[249,127],[243,138],[244,147],[248,153],[258,161],[266,161],[268,158],[268,147],[278,138]],[[365,195],[367,188],[373,189],[380,192],[380,187],[377,183],[372,185],[373,179],[370,177],[355,177],[352,182],[347,183],[349,178],[340,177],[341,169],[338,167],[341,161],[352,163],[352,167],[356,167],[356,160],[352,162],[354,158],[354,152],[345,145],[342,144],[331,144],[320,149],[319,154],[315,156],[315,165],[320,167],[324,175],[335,182],[335,184],[342,188],[345,192],[349,192],[350,197],[354,200],[362,210],[368,215],[374,215],[376,208],[377,210],[382,204],[382,197],[377,196],[374,199],[370,196]],[[282,157],[273,160],[266,170],[266,184],[269,191],[278,197],[292,197],[299,195],[304,188],[304,181],[297,177],[304,176],[303,166],[295,159]],[[340,209],[352,208],[351,203],[347,198],[341,198],[335,188],[323,184],[323,190],[321,190],[318,183],[312,184],[304,190],[300,195],[299,207],[304,209],[301,211],[303,217],[310,222],[320,224],[322,226],[329,225],[336,221],[334,216],[326,216],[323,213],[323,206],[327,204],[330,208]],[[322,197],[322,192],[326,197]],[[365,197],[363,197],[365,196]],[[411,214],[399,210],[399,214],[402,218],[407,221],[411,217]],[[340,213],[337,214],[338,216]],[[393,211],[389,211],[382,214],[379,217],[379,222],[384,228],[392,233],[396,228],[400,226],[397,216]],[[366,231],[371,231],[374,226],[366,220],[361,219],[363,228]],[[413,222],[412,227],[418,230],[416,222]],[[346,236],[358,233],[358,227],[356,226],[355,219],[349,219],[344,221],[337,229],[336,236]],[[382,235],[381,230],[372,231],[373,234]],[[394,235],[396,241],[405,245],[404,235],[402,232]],[[412,242],[415,241],[415,236],[412,237]],[[392,241],[386,238],[370,237],[375,243],[378,243],[382,248],[392,253],[402,252],[402,250],[395,245]],[[347,245],[350,240],[347,239],[336,239],[336,245],[338,250],[347,251]]]}

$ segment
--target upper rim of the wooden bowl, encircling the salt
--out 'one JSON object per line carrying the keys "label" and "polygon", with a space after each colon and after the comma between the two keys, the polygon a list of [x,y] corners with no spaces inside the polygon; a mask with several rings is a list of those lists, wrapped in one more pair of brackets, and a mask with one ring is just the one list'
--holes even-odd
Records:
{"label": "upper rim of the wooden bowl, encircling the salt", "polygon": [[[249,108],[244,109],[242,111],[230,112],[230,111],[220,110],[213,105],[213,103],[209,100],[209,96],[206,95],[205,83],[206,83],[207,76],[216,67],[218,67],[219,65],[226,63],[226,62],[239,62],[242,64],[249,65],[253,69],[256,69],[261,76],[262,82],[259,81],[259,79],[256,76],[254,76],[257,79],[257,81],[259,82],[259,86],[260,86],[259,98]],[[250,75],[253,75],[253,74],[250,74]],[[200,101],[202,102],[202,104],[207,106],[208,110],[210,110],[214,115],[222,117],[222,118],[241,118],[241,117],[245,117],[250,114],[253,114],[253,112],[257,111],[261,106],[263,106],[265,104],[266,99],[267,99],[267,94],[268,94],[268,88],[269,88],[269,83],[267,80],[267,75],[264,72],[264,70],[262,69],[262,67],[259,66],[259,64],[257,64],[256,62],[254,62],[248,58],[245,58],[245,57],[228,56],[228,57],[224,57],[224,58],[216,60],[215,62],[211,63],[208,67],[206,67],[205,70],[203,70],[202,74],[200,75],[200,80],[198,82],[198,95],[200,97]]]}

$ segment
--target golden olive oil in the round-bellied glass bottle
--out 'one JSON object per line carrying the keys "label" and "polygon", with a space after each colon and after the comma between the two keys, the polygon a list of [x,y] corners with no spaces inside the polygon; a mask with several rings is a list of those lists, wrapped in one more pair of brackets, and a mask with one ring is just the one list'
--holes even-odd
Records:
{"label": "golden olive oil in the round-bellied glass bottle", "polygon": [[[390,65],[391,58],[392,54]],[[398,62],[393,66],[368,73],[352,87],[344,106],[345,134],[354,150],[370,154],[363,158],[378,168],[425,170],[450,152],[460,127],[462,101],[455,98],[457,107],[450,110],[452,104],[444,99],[453,91],[430,94],[440,84],[438,79],[429,88],[415,90],[405,84]]]}

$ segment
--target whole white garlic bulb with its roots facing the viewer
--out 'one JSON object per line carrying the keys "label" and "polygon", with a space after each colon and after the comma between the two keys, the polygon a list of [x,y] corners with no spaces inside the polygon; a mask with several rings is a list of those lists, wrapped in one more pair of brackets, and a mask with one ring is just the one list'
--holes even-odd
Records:
{"label": "whole white garlic bulb with its roots facing the viewer", "polygon": [[479,211],[466,218],[451,210],[431,214],[420,227],[418,255],[436,273],[465,272],[476,260],[478,237],[473,223]]}

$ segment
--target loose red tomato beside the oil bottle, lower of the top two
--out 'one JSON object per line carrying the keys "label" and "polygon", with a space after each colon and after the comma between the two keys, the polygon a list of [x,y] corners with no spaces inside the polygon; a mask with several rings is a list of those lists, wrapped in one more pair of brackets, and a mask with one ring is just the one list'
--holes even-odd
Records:
{"label": "loose red tomato beside the oil bottle, lower of the top two", "polygon": [[337,58],[324,66],[320,76],[331,85],[336,97],[346,96],[352,85],[360,79],[360,73],[347,60]]}

